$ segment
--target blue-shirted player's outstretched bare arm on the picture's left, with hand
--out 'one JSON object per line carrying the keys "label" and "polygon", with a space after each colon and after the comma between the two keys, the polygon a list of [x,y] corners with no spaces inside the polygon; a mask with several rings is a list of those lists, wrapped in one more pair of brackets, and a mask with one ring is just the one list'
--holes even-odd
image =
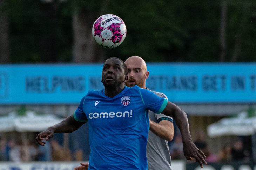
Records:
{"label": "blue-shirted player's outstretched bare arm on the picture's left, with hand", "polygon": [[44,146],[45,142],[43,142],[43,140],[45,139],[48,141],[53,137],[54,133],[71,133],[81,127],[84,123],[85,122],[76,121],[74,116],[71,115],[60,123],[53,125],[47,128],[45,131],[39,133],[35,138],[36,142],[38,142],[39,145]]}

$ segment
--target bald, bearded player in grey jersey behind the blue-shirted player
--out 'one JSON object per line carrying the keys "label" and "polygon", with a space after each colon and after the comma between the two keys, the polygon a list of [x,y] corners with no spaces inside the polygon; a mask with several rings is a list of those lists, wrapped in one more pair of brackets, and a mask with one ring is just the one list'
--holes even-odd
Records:
{"label": "bald, bearded player in grey jersey behind the blue-shirted player", "polygon": [[[146,62],[139,56],[129,57],[125,64],[128,68],[128,81],[126,86],[135,85],[150,90],[146,87],[146,79],[149,77]],[[153,91],[157,96],[166,95]],[[168,141],[174,136],[173,118],[164,114],[157,114],[149,110],[150,131],[148,132],[147,159],[148,170],[164,169],[171,170],[171,156]]]}

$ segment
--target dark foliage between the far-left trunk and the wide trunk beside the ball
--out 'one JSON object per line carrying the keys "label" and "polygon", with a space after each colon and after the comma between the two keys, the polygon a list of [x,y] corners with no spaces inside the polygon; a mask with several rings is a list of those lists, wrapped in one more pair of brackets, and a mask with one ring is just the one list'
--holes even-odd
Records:
{"label": "dark foliage between the far-left trunk and the wide trunk beside the ball", "polygon": [[13,63],[71,61],[71,14],[55,10],[63,4],[32,0],[6,4]]}

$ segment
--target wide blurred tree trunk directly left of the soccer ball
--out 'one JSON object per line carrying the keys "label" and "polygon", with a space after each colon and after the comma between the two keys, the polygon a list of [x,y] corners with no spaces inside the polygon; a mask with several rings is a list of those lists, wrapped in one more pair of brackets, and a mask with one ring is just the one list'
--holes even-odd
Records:
{"label": "wide blurred tree trunk directly left of the soccer ball", "polygon": [[[108,2],[108,1],[106,1]],[[105,52],[97,50],[97,44],[92,37],[92,23],[94,23],[95,13],[92,12],[95,3],[86,1],[72,1],[72,28],[73,28],[73,62],[103,62]],[[105,9],[105,8],[101,8]]]}

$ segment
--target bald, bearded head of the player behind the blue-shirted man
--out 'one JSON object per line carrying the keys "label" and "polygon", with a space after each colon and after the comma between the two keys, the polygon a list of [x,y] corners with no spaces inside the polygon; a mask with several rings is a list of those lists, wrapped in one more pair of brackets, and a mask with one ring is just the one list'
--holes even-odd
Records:
{"label": "bald, bearded head of the player behind the blue-shirted man", "polygon": [[128,68],[128,81],[126,82],[126,86],[133,87],[137,85],[145,89],[146,79],[149,75],[146,62],[139,56],[132,56],[124,63]]}

